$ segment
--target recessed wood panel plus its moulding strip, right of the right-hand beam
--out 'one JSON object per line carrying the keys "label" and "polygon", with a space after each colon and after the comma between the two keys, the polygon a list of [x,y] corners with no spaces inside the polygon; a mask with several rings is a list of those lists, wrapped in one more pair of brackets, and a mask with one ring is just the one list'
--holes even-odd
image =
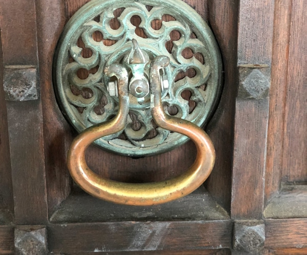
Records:
{"label": "recessed wood panel plus its moulding strip, right of the right-hand beam", "polygon": [[307,180],[305,1],[275,1],[266,200]]}

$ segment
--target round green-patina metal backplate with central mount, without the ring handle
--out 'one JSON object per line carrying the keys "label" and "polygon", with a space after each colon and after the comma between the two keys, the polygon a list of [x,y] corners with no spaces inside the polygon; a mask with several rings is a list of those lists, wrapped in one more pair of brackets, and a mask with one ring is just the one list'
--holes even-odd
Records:
{"label": "round green-patina metal backplate with central mount, without the ring handle", "polygon": [[[118,8],[124,9],[117,18],[120,27],[112,29],[110,22]],[[161,20],[166,14],[172,16],[172,20],[163,21],[158,30],[152,28],[152,21]],[[146,38],[138,36],[135,25],[131,24],[135,15],[141,18],[139,27]],[[169,53],[166,43],[173,31],[180,33],[180,39],[172,42]],[[93,35],[97,32],[103,39],[115,43],[106,46],[103,41],[95,41]],[[82,57],[82,48],[77,44],[79,38],[84,47],[91,50],[91,57]],[[190,49],[194,56],[184,58],[185,49]],[[142,157],[185,143],[187,137],[157,127],[151,117],[146,83],[150,61],[159,55],[170,58],[170,65],[161,73],[161,78],[169,84],[162,93],[166,110],[176,107],[175,116],[204,126],[213,113],[222,87],[221,56],[206,22],[190,6],[177,0],[92,0],[78,10],[65,26],[56,52],[55,91],[63,114],[78,132],[112,118],[118,109],[118,98],[109,94],[107,87],[112,78],[104,75],[103,70],[119,63],[130,73],[129,118],[121,134],[101,138],[96,144],[118,154]],[[97,71],[82,80],[77,75],[81,68],[96,68]],[[189,69],[195,71],[194,77],[176,80],[180,73]],[[82,96],[75,92],[76,89],[87,89],[90,95]],[[196,105],[192,112],[189,101],[182,96],[185,90],[191,92],[190,100]]]}

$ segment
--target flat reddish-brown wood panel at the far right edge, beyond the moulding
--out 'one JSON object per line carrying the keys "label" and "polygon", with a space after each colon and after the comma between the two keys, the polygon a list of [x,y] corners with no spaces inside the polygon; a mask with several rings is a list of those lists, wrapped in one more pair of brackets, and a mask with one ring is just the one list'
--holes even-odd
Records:
{"label": "flat reddish-brown wood panel at the far right edge, beyond the moulding", "polygon": [[306,9],[306,1],[292,2],[282,174],[286,182],[307,182]]}

